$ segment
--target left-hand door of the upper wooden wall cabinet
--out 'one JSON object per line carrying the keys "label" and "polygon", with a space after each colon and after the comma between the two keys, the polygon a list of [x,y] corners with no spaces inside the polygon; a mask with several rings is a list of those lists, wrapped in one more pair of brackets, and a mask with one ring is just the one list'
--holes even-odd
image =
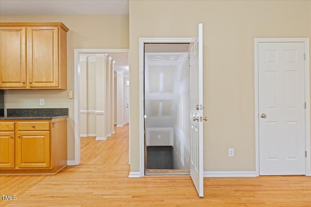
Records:
{"label": "left-hand door of the upper wooden wall cabinet", "polygon": [[0,27],[0,88],[26,88],[26,27]]}

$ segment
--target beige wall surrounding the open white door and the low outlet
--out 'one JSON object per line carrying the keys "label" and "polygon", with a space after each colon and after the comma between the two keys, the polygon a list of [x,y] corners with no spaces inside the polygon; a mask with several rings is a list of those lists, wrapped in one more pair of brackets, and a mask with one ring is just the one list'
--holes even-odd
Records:
{"label": "beige wall surrounding the open white door and the low outlet", "polygon": [[[195,37],[203,23],[204,171],[255,171],[254,38],[311,37],[310,4],[130,0],[131,114],[139,113],[139,37]],[[139,171],[138,118],[130,120],[132,172]]]}

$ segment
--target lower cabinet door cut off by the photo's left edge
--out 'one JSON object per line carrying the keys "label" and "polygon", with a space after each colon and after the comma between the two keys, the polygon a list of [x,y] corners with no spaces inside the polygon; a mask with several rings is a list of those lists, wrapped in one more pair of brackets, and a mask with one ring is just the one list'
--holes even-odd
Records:
{"label": "lower cabinet door cut off by the photo's left edge", "polygon": [[14,168],[14,132],[0,131],[0,168]]}

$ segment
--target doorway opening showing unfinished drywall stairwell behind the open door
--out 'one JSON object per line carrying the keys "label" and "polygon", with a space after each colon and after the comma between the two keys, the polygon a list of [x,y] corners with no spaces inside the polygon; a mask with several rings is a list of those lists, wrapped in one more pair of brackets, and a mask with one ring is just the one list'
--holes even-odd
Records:
{"label": "doorway opening showing unfinished drywall stairwell behind the open door", "polygon": [[190,175],[189,44],[144,44],[145,175]]}

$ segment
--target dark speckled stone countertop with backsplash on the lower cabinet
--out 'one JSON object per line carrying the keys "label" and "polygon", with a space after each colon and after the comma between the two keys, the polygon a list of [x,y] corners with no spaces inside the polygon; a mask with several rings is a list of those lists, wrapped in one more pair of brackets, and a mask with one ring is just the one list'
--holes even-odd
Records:
{"label": "dark speckled stone countertop with backsplash on the lower cabinet", "polygon": [[13,119],[55,119],[68,116],[68,108],[52,109],[7,109],[6,116],[0,120]]}

